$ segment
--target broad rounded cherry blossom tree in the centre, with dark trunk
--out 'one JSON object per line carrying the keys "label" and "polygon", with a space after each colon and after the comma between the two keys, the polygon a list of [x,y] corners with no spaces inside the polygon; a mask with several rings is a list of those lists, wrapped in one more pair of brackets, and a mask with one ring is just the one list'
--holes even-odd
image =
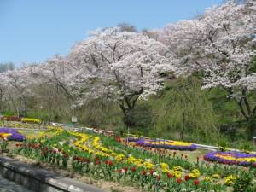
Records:
{"label": "broad rounded cherry blossom tree in the centre, with dark trunk", "polygon": [[142,33],[118,27],[96,30],[68,55],[69,65],[79,70],[67,84],[79,88],[77,105],[98,97],[117,102],[126,125],[131,125],[130,112],[137,100],[155,94],[163,86],[160,74],[173,70],[168,56],[164,44]]}

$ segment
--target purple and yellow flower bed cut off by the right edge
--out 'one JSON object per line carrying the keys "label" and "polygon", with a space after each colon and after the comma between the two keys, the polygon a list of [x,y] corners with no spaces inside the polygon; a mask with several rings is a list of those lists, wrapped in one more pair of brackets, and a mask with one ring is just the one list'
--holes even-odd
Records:
{"label": "purple and yellow flower bed cut off by the right edge", "polygon": [[207,161],[217,161],[218,163],[240,166],[256,166],[256,154],[246,154],[240,152],[210,152],[204,155]]}

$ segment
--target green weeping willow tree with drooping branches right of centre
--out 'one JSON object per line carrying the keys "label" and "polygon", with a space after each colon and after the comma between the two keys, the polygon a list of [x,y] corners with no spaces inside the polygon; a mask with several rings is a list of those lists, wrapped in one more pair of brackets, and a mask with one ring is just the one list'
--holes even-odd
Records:
{"label": "green weeping willow tree with drooping branches right of centre", "polygon": [[184,135],[205,142],[218,140],[218,120],[197,78],[177,79],[165,94],[156,124],[161,132],[178,131],[182,140]]}

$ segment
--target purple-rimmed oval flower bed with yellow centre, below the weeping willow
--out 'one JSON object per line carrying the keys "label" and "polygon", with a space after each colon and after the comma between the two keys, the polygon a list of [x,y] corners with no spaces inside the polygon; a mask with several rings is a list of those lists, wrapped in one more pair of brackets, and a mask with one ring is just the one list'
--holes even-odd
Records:
{"label": "purple-rimmed oval flower bed with yellow centre, below the weeping willow", "polygon": [[138,145],[151,147],[151,148],[168,148],[175,150],[195,150],[196,146],[192,143],[177,142],[170,140],[148,140],[148,139],[139,139],[137,141]]}

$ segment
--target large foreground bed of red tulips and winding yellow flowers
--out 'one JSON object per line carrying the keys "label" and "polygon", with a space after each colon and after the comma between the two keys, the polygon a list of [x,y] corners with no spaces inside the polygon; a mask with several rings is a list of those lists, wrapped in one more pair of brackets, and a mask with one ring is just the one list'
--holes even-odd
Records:
{"label": "large foreground bed of red tulips and winding yellow flowers", "polygon": [[231,166],[212,168],[201,163],[198,157],[197,162],[191,163],[187,155],[179,157],[176,151],[173,155],[158,156],[144,149],[124,146],[116,137],[65,131],[60,127],[49,128],[46,132],[53,132],[52,137],[42,134],[42,137],[28,138],[25,143],[16,143],[14,153],[96,179],[128,183],[154,192],[230,191],[227,189],[240,179],[236,175],[241,171]]}

